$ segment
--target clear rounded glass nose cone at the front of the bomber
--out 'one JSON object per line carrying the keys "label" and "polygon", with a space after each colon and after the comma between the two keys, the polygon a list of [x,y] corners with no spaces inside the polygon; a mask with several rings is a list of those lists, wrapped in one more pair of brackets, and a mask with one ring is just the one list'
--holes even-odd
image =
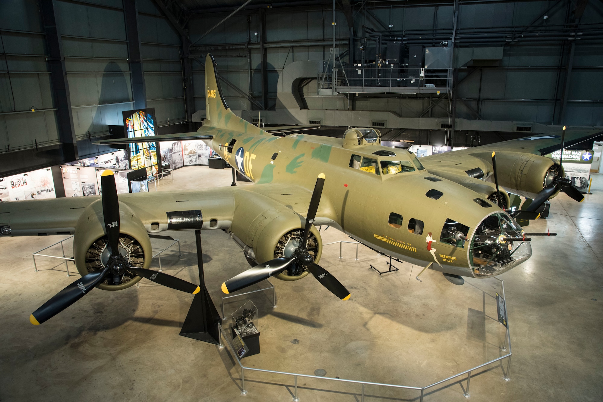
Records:
{"label": "clear rounded glass nose cone at the front of the bomber", "polygon": [[532,255],[529,241],[523,241],[522,229],[502,212],[489,215],[471,239],[469,261],[473,273],[491,276],[521,264]]}

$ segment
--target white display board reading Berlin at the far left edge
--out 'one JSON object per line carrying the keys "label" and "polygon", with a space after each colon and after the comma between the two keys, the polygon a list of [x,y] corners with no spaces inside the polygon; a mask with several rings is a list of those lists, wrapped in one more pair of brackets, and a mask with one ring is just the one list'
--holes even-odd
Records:
{"label": "white display board reading Berlin at the far left edge", "polygon": [[38,169],[0,179],[0,201],[55,198],[51,169]]}

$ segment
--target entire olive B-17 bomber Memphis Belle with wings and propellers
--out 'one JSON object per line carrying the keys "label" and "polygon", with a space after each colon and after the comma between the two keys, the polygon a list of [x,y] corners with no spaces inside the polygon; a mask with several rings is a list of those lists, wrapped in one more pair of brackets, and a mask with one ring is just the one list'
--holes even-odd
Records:
{"label": "entire olive B-17 bomber Memphis Belle with wings and propellers", "polygon": [[[562,165],[542,155],[561,149],[562,141],[570,146],[601,134],[568,130],[419,160],[407,150],[381,146],[373,128],[350,128],[343,139],[271,135],[227,107],[209,54],[205,82],[207,120],[197,132],[136,142],[203,139],[254,184],[118,196],[107,170],[100,197],[0,203],[1,236],[75,235],[75,265],[83,277],[37,309],[31,323],[43,323],[94,287],[121,290],[142,277],[198,292],[197,285],[148,269],[148,233],[165,230],[230,234],[252,268],[225,280],[226,293],[272,276],[298,280],[312,274],[339,298],[349,298],[341,282],[318,265],[320,225],[461,283],[463,276],[496,276],[531,256],[516,218],[537,218],[559,191],[584,199]],[[533,202],[510,211],[508,193]]]}

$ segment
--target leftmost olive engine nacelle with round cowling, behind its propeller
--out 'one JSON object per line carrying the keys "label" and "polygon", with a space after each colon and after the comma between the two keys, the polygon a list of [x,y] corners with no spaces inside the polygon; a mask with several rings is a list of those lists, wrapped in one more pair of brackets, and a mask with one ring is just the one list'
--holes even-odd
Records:
{"label": "leftmost olive engine nacelle with round cowling, behind its propeller", "polygon": [[[119,233],[119,252],[128,259],[128,263],[148,268],[153,258],[151,240],[140,219],[123,202],[119,202]],[[103,223],[103,203],[100,199],[84,209],[75,225],[74,234],[74,259],[79,273],[84,276],[102,269],[109,259],[109,250]],[[119,280],[111,275],[107,278],[98,288],[121,290],[141,279],[129,271]]]}

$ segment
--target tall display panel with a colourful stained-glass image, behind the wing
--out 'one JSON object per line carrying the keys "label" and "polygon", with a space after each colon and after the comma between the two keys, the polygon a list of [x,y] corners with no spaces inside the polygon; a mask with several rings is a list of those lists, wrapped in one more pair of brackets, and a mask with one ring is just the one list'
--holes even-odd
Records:
{"label": "tall display panel with a colourful stained-glass image, behind the wing", "polygon": [[[155,109],[138,109],[122,112],[128,138],[155,135]],[[130,144],[130,169],[147,169],[147,177],[157,175],[156,143]]]}

